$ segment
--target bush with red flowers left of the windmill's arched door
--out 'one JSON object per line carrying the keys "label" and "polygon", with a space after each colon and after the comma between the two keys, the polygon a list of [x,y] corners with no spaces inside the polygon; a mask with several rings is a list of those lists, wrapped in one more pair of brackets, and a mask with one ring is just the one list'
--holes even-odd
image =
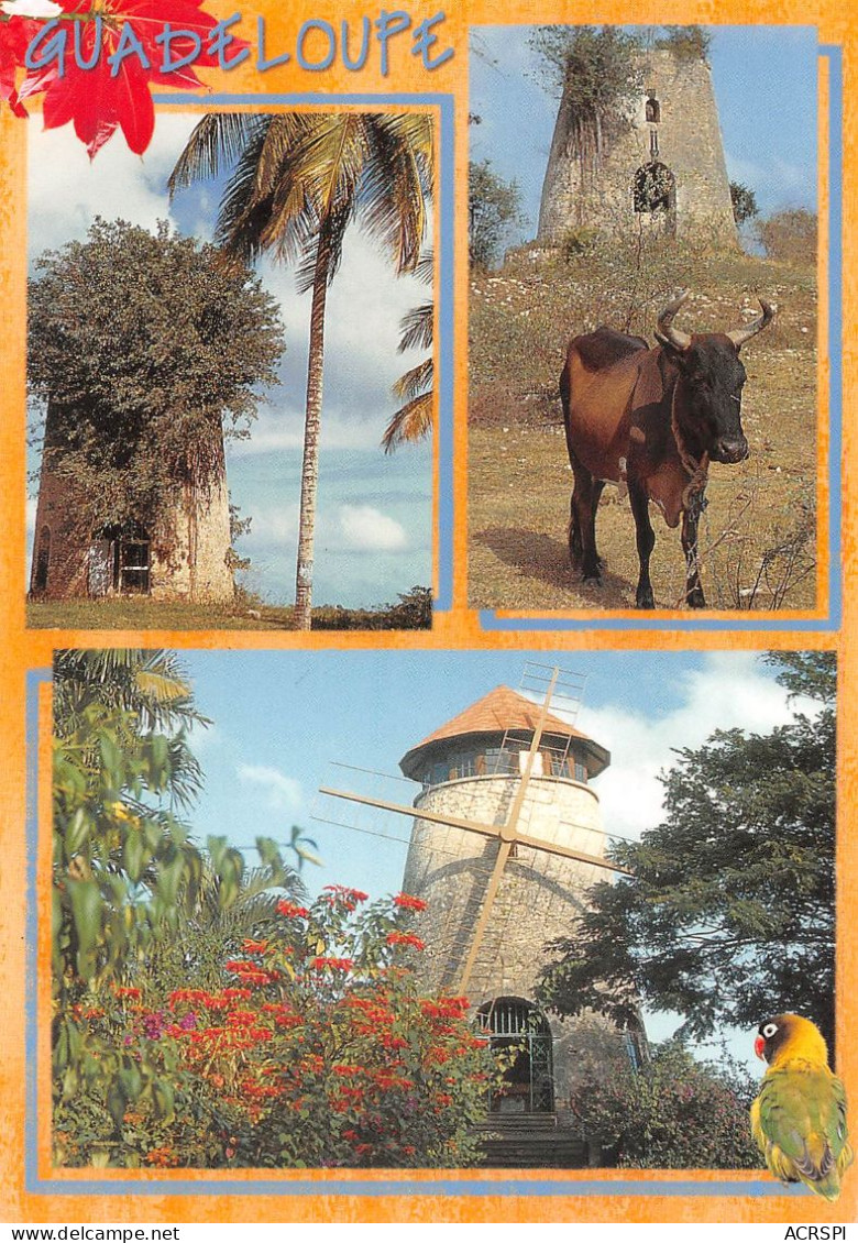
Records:
{"label": "bush with red flowers left of the windmill's arched door", "polygon": [[[310,907],[284,900],[266,938],[226,958],[221,988],[191,983],[162,998],[124,988],[109,1018],[81,1011],[82,1027],[109,1028],[129,1064],[134,1053],[160,1058],[175,1098],[164,1120],[126,1093],[111,1163],[474,1162],[470,1127],[497,1074],[486,1040],[468,1023],[466,998],[419,987],[418,900],[366,901],[341,886]],[[73,1117],[61,1124],[66,1160],[85,1163]]]}

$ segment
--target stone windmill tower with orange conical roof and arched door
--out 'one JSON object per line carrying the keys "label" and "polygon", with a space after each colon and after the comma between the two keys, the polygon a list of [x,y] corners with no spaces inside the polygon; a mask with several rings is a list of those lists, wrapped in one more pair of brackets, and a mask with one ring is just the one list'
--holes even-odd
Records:
{"label": "stone windmill tower with orange conical roof and arched door", "polygon": [[541,705],[500,686],[412,747],[400,769],[422,786],[413,808],[325,791],[414,818],[403,889],[427,902],[417,927],[425,984],[468,996],[492,1045],[517,1050],[486,1120],[494,1166],[596,1163],[571,1112],[581,1063],[645,1057],[643,1027],[548,1017],[535,1001],[547,945],[570,935],[587,889],[618,870],[591,784],[611,756],[552,711],[558,677],[545,690],[537,666],[522,685],[542,680]]}

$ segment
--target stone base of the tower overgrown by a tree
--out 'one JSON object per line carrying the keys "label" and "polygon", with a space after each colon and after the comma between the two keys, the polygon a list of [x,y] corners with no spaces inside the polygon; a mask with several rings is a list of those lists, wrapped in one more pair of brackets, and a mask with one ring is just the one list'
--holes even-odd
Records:
{"label": "stone base of the tower overgrown by a tree", "polygon": [[[62,471],[57,411],[48,404],[39,485],[30,594],[47,599],[150,595],[228,603],[230,516],[223,434],[205,485],[177,484],[147,526],[107,523],[92,530]],[[133,461],[128,470],[133,470]]]}

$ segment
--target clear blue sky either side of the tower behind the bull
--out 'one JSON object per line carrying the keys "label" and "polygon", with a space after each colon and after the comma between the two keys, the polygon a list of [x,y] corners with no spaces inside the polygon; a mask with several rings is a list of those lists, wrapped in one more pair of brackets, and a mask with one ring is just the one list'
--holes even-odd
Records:
{"label": "clear blue sky either side of the tower behind the bull", "polygon": [[[510,30],[516,31],[511,37]],[[475,26],[470,40],[470,157],[491,160],[522,196],[509,242],[536,234],[557,98],[540,85],[530,27]],[[710,63],[727,174],[762,215],[816,208],[817,32],[811,26],[717,26]]]}

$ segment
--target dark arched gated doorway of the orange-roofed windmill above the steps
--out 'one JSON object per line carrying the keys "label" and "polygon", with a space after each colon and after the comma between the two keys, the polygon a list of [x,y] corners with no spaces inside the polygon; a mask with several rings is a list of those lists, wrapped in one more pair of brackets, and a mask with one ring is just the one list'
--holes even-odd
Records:
{"label": "dark arched gated doorway of the orange-roofed windmill above the steps", "polygon": [[476,1014],[492,1050],[512,1054],[504,1088],[491,1095],[492,1114],[551,1114],[555,1109],[552,1035],[548,1021],[520,997],[497,997]]}

